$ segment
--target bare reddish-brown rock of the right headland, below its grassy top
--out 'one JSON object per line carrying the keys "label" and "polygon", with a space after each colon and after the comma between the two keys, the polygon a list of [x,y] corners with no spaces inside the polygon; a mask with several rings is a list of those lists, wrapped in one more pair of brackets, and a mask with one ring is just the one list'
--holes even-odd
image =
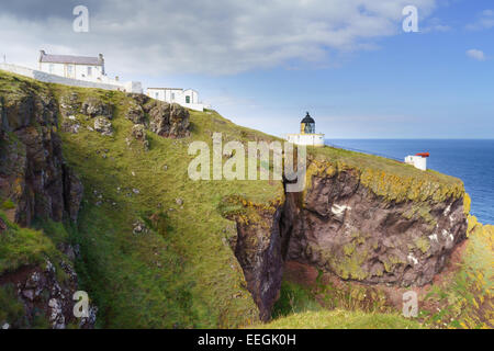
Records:
{"label": "bare reddish-brown rock of the right headland, below its grassy top", "polygon": [[287,196],[287,258],[345,280],[422,286],[465,239],[462,199],[390,203],[351,170],[314,176],[305,194]]}

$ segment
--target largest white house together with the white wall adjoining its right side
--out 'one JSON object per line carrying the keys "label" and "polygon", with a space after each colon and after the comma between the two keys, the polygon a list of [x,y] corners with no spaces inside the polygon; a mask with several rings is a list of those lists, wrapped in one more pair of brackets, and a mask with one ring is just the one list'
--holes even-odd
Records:
{"label": "largest white house together with the white wall adjoining its right side", "polygon": [[[70,80],[85,81],[98,84],[102,89],[114,89],[126,92],[143,93],[143,87],[138,81],[121,82],[119,77],[110,78],[104,70],[104,58],[102,54],[98,57],[71,56],[71,55],[48,55],[45,50],[40,52],[40,72],[50,76],[64,77]],[[34,72],[36,76],[37,73]],[[41,75],[37,75],[41,76]],[[49,77],[44,79],[49,81]],[[55,80],[56,81],[56,80]],[[74,84],[77,84],[75,82]]]}

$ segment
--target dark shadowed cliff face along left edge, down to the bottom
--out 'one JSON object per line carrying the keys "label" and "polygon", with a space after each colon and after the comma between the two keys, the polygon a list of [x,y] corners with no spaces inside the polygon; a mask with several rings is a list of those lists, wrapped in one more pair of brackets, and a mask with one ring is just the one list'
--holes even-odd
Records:
{"label": "dark shadowed cliff face along left edge, down to the bottom", "polygon": [[[19,89],[13,89],[15,86]],[[0,91],[0,204],[7,217],[0,218],[0,245],[8,248],[23,245],[15,238],[23,230],[18,225],[30,226],[35,218],[76,222],[83,191],[63,157],[57,134],[59,106],[55,98],[46,87],[15,79],[10,87],[12,91]],[[49,240],[43,234],[40,236]],[[21,257],[19,261],[25,261],[24,264],[19,263],[14,271],[0,271],[0,288],[13,286],[24,310],[22,325],[0,320],[0,327],[30,327],[41,315],[53,328],[79,321],[80,327],[93,326],[94,309],[90,319],[76,321],[72,315],[72,294],[78,285],[71,262],[74,249],[65,242],[59,242],[56,249],[57,253],[50,251],[52,257],[43,252],[43,263]],[[29,254],[22,247],[21,254]]]}

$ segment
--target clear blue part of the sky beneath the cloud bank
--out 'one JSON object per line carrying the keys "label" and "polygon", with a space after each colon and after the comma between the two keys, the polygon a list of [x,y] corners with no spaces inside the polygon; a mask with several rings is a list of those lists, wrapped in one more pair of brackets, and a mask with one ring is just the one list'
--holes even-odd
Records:
{"label": "clear blue part of the sky beneath the cloud bank", "polygon": [[[419,16],[422,33],[378,38],[375,49],[343,55],[328,68],[299,63],[167,81],[195,87],[226,117],[277,135],[297,131],[310,111],[328,138],[493,138],[494,25],[468,27],[487,9],[494,3],[439,5],[433,21]],[[448,27],[423,32],[436,21]],[[472,59],[469,49],[487,58]]]}

